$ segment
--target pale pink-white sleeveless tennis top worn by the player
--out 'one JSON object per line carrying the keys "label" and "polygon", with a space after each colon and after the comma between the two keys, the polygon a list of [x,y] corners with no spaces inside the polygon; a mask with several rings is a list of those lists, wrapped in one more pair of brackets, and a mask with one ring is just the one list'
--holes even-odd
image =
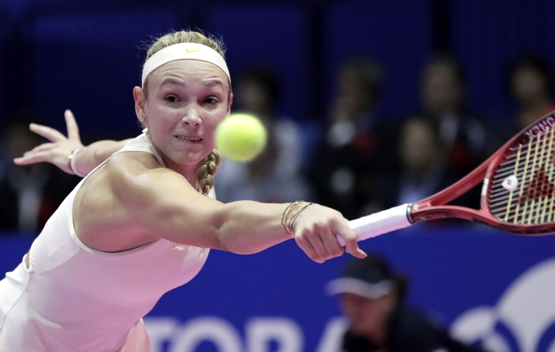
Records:
{"label": "pale pink-white sleeveless tennis top worn by the player", "polygon": [[[131,151],[152,153],[164,166],[145,134],[117,153]],[[87,177],[33,242],[29,268],[23,260],[0,281],[2,352],[114,352],[165,292],[195,277],[206,261],[209,249],[165,239],[117,253],[85,246],[72,209]]]}

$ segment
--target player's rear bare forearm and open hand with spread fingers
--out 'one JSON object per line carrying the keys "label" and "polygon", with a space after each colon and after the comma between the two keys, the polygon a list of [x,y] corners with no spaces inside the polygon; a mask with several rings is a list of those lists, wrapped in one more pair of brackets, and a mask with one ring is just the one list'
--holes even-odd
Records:
{"label": "player's rear bare forearm and open hand with spread fingers", "polygon": [[[68,156],[72,154],[75,149],[83,147],[83,143],[79,137],[79,127],[75,122],[75,117],[71,110],[65,110],[64,117],[68,130],[67,137],[52,127],[31,124],[29,125],[31,131],[43,136],[50,142],[34,147],[32,150],[27,151],[23,156],[17,157],[13,161],[17,165],[29,165],[46,161],[56,165],[68,174],[74,174],[73,170],[71,170],[68,165]],[[74,169],[78,171],[80,175],[87,175],[104,160],[108,159],[110,155],[114,154],[114,152],[122,149],[128,140],[129,139],[122,141],[102,140],[84,147],[83,151],[72,160]]]}

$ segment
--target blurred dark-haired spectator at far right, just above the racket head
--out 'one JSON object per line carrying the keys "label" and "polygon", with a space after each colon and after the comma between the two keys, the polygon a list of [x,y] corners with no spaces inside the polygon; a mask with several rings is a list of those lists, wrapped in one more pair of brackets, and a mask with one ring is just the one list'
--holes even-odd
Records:
{"label": "blurred dark-haired spectator at far right, just above the racket head", "polygon": [[518,106],[517,125],[513,133],[555,110],[552,84],[551,69],[547,61],[539,56],[521,55],[509,64],[507,88]]}

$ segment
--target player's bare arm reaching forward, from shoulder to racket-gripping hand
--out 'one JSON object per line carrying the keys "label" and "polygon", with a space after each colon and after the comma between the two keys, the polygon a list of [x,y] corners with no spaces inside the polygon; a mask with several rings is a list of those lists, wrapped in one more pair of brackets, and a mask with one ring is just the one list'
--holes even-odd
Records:
{"label": "player's bare arm reaching forward, from shoulder to racket-gripping hand", "polygon": [[[110,160],[113,163],[108,165],[104,182],[113,194],[115,206],[110,208],[123,209],[130,228],[139,225],[171,242],[238,254],[260,252],[291,238],[281,227],[287,204],[224,204],[196,191],[183,176],[160,167],[152,155],[122,154]],[[306,207],[292,222],[292,230],[299,247],[316,262],[344,252],[336,235],[345,239],[346,252],[366,256],[347,220],[331,208]]]}

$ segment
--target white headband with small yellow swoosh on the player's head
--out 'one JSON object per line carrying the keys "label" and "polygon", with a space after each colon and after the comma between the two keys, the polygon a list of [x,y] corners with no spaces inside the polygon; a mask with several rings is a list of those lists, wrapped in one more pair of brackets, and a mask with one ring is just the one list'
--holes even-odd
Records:
{"label": "white headband with small yellow swoosh on the player's head", "polygon": [[225,64],[224,58],[221,57],[216,50],[197,43],[173,44],[154,53],[154,55],[144,63],[141,84],[144,86],[145,79],[147,79],[147,76],[155,69],[175,60],[199,60],[214,64],[228,76],[229,84],[231,84],[228,65]]}

